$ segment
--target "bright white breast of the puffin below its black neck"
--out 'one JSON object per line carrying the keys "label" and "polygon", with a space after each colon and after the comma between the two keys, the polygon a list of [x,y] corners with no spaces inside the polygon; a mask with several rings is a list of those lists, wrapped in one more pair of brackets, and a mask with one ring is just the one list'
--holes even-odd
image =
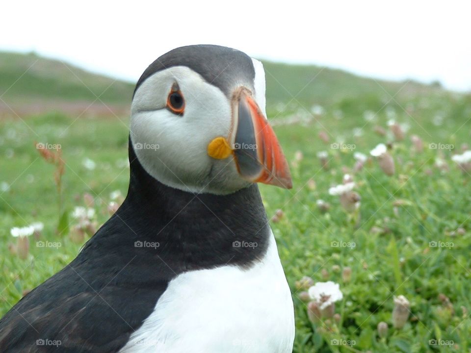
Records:
{"label": "bright white breast of the puffin below its black neck", "polygon": [[[247,248],[251,251],[251,248]],[[291,293],[273,234],[249,270],[223,266],[174,278],[120,353],[290,353]]]}

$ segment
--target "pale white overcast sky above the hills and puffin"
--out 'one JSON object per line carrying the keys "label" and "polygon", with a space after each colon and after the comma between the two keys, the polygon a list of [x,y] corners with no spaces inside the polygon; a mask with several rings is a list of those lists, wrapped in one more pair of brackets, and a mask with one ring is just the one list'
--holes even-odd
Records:
{"label": "pale white overcast sky above the hills and puffin", "polygon": [[360,75],[471,91],[468,1],[3,1],[0,50],[135,81],[159,55],[219,44]]}

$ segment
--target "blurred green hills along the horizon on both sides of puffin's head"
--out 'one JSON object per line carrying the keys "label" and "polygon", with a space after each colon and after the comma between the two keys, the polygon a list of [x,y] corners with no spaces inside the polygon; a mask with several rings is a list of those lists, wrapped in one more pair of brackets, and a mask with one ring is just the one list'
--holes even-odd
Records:
{"label": "blurred green hills along the horizon on both sides of puffin's head", "polygon": [[[351,114],[405,105],[414,98],[464,95],[440,84],[391,82],[314,65],[264,62],[270,116],[311,110],[314,105]],[[128,115],[134,84],[93,74],[69,63],[36,55],[0,52],[0,116],[59,111],[74,116]],[[469,101],[469,98],[468,98]],[[458,102],[459,105],[459,102]]]}

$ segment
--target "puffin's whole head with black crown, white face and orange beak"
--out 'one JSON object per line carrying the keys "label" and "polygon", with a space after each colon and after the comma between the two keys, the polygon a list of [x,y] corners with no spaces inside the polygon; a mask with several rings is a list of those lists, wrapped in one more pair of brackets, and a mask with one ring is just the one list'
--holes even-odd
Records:
{"label": "puffin's whole head with black crown, white face and orange beak", "polygon": [[226,195],[255,182],[291,188],[288,163],[265,113],[262,63],[212,45],[177,48],[139,78],[131,148],[159,182]]}

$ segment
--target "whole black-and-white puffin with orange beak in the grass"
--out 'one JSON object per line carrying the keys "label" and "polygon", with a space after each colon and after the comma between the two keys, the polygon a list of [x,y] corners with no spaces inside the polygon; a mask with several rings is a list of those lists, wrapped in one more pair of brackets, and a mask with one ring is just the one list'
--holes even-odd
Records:
{"label": "whole black-and-white puffin with orange beak in the grass", "polygon": [[262,63],[171,50],[131,102],[125,201],[0,320],[2,353],[288,353],[291,292],[258,183],[291,188]]}

